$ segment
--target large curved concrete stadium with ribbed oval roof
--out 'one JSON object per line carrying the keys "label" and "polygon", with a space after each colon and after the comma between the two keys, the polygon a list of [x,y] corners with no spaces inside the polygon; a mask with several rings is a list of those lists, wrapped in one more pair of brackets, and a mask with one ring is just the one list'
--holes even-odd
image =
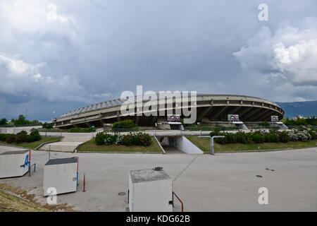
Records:
{"label": "large curved concrete stadium with ribbed oval roof", "polygon": [[[190,99],[190,98],[189,98]],[[135,106],[137,106],[137,97],[135,97]],[[143,100],[143,105],[146,102],[154,100]],[[158,116],[125,116],[120,113],[120,107],[125,100],[109,100],[99,102],[94,105],[75,109],[73,111],[62,114],[61,117],[54,120],[52,123],[56,128],[71,128],[71,127],[89,127],[103,126],[111,124],[115,121],[124,119],[132,119],[139,126],[154,126],[156,122],[166,121],[166,115],[170,107],[159,107],[157,102]],[[175,114],[175,97],[173,98],[173,114]],[[178,108],[182,108],[184,105]],[[185,105],[187,107],[187,105]],[[135,110],[135,112],[137,112]],[[159,112],[165,112],[165,117],[159,116]],[[144,113],[142,110],[139,113]],[[278,116],[279,120],[284,116],[284,111],[275,102],[264,100],[258,97],[249,97],[245,95],[197,95],[197,120],[202,124],[213,124],[220,121],[228,121],[228,114],[239,114],[240,121],[271,121],[271,116]],[[182,116],[181,116],[182,117]]]}

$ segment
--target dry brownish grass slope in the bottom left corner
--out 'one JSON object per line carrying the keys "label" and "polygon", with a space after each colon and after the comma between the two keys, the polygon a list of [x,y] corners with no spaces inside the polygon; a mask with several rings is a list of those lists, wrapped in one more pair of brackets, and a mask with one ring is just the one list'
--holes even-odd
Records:
{"label": "dry brownish grass slope in the bottom left corner", "polygon": [[35,194],[27,194],[23,189],[9,184],[0,184],[0,212],[74,212],[68,204],[49,205],[35,201]]}

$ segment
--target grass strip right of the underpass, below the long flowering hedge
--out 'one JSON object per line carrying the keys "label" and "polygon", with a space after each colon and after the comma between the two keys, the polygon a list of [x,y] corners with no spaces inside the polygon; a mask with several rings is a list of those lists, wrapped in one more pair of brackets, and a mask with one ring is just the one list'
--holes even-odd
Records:
{"label": "grass strip right of the underpass, below the long flowering hedge", "polygon": [[[210,139],[198,138],[197,136],[187,136],[189,141],[192,141],[194,145],[197,145],[202,151],[210,152]],[[227,143],[219,144],[214,143],[215,151],[235,151],[235,150],[273,150],[284,148],[311,148],[316,147],[317,141],[289,141],[287,143]],[[259,148],[260,147],[260,148]]]}

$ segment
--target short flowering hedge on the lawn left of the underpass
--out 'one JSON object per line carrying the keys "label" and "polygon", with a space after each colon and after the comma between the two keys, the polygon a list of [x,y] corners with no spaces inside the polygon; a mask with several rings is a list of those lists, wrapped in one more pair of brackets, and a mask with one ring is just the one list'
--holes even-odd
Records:
{"label": "short flowering hedge on the lawn left of the underpass", "polygon": [[151,145],[151,136],[147,133],[129,133],[127,135],[121,135],[120,133],[97,133],[95,142],[97,145]]}

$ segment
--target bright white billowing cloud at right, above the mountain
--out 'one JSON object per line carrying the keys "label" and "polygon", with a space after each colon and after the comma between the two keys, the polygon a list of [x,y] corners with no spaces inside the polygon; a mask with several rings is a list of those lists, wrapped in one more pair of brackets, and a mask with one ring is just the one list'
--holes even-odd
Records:
{"label": "bright white billowing cloud at right, above the mountain", "polygon": [[250,78],[256,76],[255,85],[275,90],[272,95],[280,97],[285,92],[289,97],[303,99],[297,95],[306,90],[316,98],[317,19],[306,18],[298,27],[287,25],[275,32],[263,27],[233,56],[244,73]]}

